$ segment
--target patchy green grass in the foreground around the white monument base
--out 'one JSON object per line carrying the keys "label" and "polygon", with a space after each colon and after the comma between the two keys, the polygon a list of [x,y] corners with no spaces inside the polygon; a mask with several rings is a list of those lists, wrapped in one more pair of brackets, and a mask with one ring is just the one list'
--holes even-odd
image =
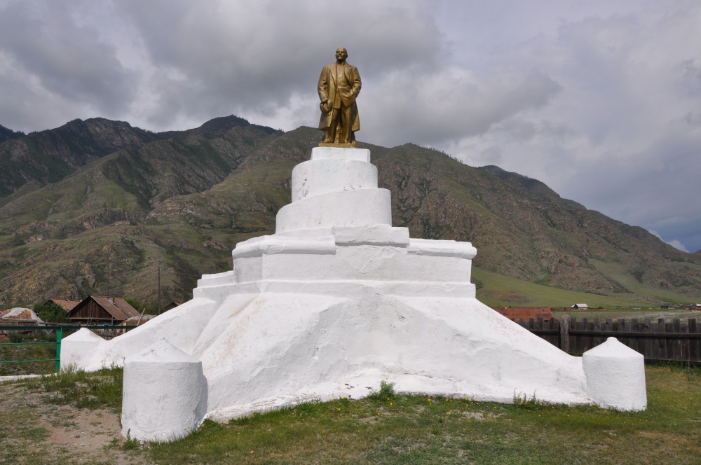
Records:
{"label": "patchy green grass in the foreground around the white monument base", "polygon": [[[118,379],[114,370],[110,373],[88,378],[109,384]],[[47,426],[32,411],[13,413],[6,391],[48,389],[42,394],[46,402],[70,404],[76,402],[71,399],[100,398],[102,390],[111,399],[104,405],[113,405],[111,415],[116,415],[115,389],[98,389],[100,382],[70,376],[66,382],[0,385],[0,424],[6,426],[0,448],[15,454],[12,462],[3,454],[0,463],[65,463],[49,454],[52,433]],[[532,399],[515,405],[477,403],[386,391],[361,401],[305,403],[225,424],[205,421],[196,433],[174,443],[105,437],[102,455],[81,455],[76,448],[71,457],[75,463],[114,463],[102,459],[121,450],[128,454],[121,463],[146,464],[701,463],[701,369],[647,366],[646,377],[644,412],[569,408]]]}

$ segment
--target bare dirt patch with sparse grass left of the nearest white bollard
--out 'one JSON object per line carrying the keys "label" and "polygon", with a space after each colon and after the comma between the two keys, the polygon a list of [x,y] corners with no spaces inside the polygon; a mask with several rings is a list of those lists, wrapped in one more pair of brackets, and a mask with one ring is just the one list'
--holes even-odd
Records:
{"label": "bare dirt patch with sparse grass left of the nearest white bollard", "polygon": [[24,384],[0,384],[0,464],[148,464],[122,450],[118,415],[48,402]]}

